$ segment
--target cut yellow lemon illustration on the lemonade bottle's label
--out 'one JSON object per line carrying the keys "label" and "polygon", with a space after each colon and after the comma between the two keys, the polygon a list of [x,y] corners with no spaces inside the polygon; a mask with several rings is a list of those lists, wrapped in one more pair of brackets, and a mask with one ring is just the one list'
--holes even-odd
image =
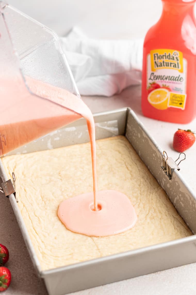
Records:
{"label": "cut yellow lemon illustration on the lemonade bottle's label", "polygon": [[165,110],[167,109],[168,97],[169,91],[167,89],[158,88],[148,94],[148,102],[155,109]]}

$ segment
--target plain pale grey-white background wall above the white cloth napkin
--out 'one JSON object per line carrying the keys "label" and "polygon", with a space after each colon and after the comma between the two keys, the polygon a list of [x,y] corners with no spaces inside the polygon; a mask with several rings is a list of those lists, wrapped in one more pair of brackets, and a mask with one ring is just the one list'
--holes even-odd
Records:
{"label": "plain pale grey-white background wall above the white cloth napkin", "polygon": [[6,0],[65,35],[77,25],[92,38],[138,38],[161,14],[161,0]]}

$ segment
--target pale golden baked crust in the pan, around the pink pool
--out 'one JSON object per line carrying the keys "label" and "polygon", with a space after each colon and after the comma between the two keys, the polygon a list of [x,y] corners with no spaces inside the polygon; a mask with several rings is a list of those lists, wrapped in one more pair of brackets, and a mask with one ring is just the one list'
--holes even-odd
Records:
{"label": "pale golden baked crust in the pan, around the pink pool", "polygon": [[2,158],[6,173],[16,175],[18,206],[42,270],[192,235],[124,136],[96,147],[98,190],[127,195],[138,215],[131,230],[109,237],[73,233],[57,216],[64,199],[93,190],[90,143]]}

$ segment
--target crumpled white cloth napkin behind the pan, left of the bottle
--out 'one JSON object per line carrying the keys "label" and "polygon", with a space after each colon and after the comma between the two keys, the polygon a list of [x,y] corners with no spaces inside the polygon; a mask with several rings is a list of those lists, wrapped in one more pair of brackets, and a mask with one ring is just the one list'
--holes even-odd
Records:
{"label": "crumpled white cloth napkin behind the pan, left of the bottle", "polygon": [[95,40],[74,27],[61,45],[81,95],[111,96],[141,83],[141,39]]}

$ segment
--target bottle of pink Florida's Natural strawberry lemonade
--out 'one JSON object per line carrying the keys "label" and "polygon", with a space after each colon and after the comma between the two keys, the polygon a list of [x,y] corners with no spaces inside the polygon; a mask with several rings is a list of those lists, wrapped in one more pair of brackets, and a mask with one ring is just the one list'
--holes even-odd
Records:
{"label": "bottle of pink Florida's Natural strawberry lemonade", "polygon": [[189,123],[196,116],[196,0],[162,0],[163,12],[144,40],[142,111]]}

